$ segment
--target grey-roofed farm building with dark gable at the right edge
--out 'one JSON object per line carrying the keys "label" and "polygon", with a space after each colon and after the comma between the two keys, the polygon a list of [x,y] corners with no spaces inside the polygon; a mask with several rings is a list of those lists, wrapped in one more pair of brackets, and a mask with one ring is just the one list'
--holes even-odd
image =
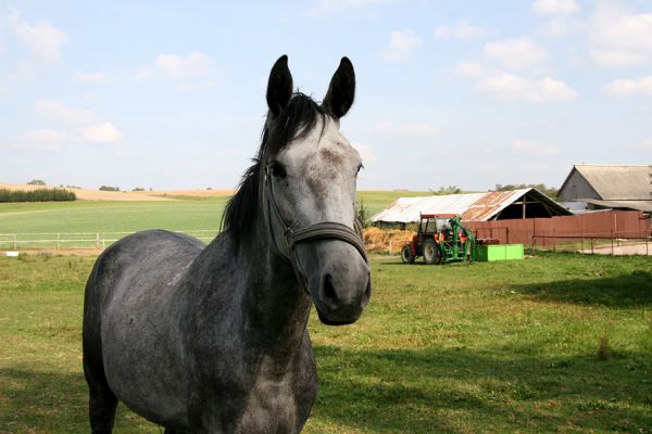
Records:
{"label": "grey-roofed farm building with dark gable at the right edge", "polygon": [[576,164],[559,197],[573,210],[652,212],[652,166]]}

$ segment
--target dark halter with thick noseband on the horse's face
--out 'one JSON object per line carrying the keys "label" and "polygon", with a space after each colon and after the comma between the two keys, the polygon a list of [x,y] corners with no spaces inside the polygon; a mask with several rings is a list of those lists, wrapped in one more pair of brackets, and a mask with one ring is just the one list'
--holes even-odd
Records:
{"label": "dark halter with thick noseband on the horse's face", "polygon": [[[347,225],[339,224],[337,221],[321,221],[318,224],[310,225],[305,228],[293,229],[287,224],[283,217],[278,204],[274,196],[274,187],[272,182],[272,173],[269,169],[269,162],[265,163],[264,181],[263,181],[263,208],[266,216],[269,232],[272,234],[272,244],[276,253],[288,260],[292,265],[297,280],[303,286],[308,293],[308,282],[305,282],[305,273],[302,272],[301,267],[297,260],[296,246],[299,243],[315,240],[339,240],[351,244],[364,258],[365,263],[368,264],[366,251],[364,248],[364,242],[362,240],[362,226],[360,221],[355,219],[355,229],[348,227]],[[274,222],[272,216],[276,221],[284,228],[284,240],[288,254],[285,254],[281,248],[276,244],[276,237],[274,234]],[[309,294],[310,295],[310,294]]]}

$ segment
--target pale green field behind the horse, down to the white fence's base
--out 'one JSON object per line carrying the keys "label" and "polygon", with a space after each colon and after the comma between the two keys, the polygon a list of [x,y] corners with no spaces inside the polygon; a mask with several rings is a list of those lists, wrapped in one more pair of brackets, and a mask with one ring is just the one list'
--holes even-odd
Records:
{"label": "pale green field behind the horse, down to the white fence's base", "polygon": [[[371,217],[400,196],[430,194],[414,191],[362,191],[359,199]],[[125,233],[146,229],[186,232],[210,240],[220,230],[228,196],[175,196],[177,201],[75,201],[0,203],[0,250],[93,247],[109,245]],[[116,233],[117,232],[117,233]],[[47,235],[43,235],[47,234]],[[59,243],[57,234],[67,242]]]}

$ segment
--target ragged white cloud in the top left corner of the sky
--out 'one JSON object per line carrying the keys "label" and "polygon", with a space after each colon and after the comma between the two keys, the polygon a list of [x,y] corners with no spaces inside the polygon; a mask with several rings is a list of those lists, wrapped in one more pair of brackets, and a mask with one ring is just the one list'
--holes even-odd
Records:
{"label": "ragged white cloud in the top left corner of the sky", "polygon": [[21,13],[15,9],[10,9],[7,21],[37,61],[52,63],[61,60],[61,47],[67,41],[64,30],[51,26],[47,21],[30,25],[23,21]]}

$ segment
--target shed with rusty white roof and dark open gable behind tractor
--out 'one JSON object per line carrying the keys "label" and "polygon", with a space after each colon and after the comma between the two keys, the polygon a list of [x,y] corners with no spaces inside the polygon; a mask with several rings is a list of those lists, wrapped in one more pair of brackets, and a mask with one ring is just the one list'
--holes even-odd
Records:
{"label": "shed with rusty white roof and dark open gable behind tractor", "polygon": [[421,214],[459,214],[467,221],[566,216],[572,213],[537,189],[399,197],[371,218],[377,226],[416,222]]}

